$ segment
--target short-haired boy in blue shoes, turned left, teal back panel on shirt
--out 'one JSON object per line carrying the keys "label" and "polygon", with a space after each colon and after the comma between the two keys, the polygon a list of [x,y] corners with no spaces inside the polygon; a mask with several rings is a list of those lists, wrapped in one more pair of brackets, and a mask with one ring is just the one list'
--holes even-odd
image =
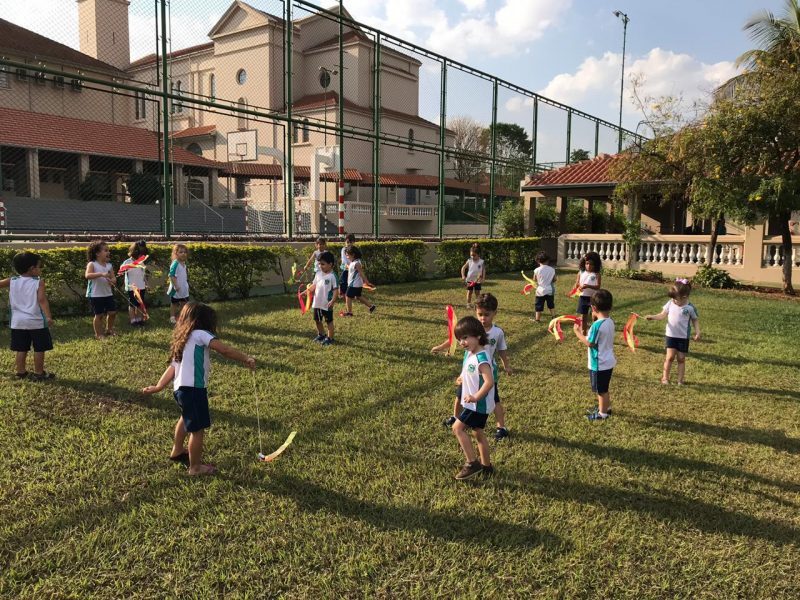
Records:
{"label": "short-haired boy in blue shoes, turned left, teal back panel on shirt", "polygon": [[597,394],[597,408],[586,415],[590,421],[603,421],[611,414],[608,387],[617,364],[614,356],[614,321],[609,316],[613,303],[611,292],[597,290],[590,300],[595,321],[589,335],[585,336],[577,323],[573,327],[577,338],[589,349],[589,381],[592,383],[592,391]]}

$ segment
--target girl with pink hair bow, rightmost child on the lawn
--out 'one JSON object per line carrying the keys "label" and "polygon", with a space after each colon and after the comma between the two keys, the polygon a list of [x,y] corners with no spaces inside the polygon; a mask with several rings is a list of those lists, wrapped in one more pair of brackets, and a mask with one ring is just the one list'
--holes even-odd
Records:
{"label": "girl with pink hair bow, rightmost child on the lawn", "polygon": [[685,383],[686,374],[686,355],[689,353],[689,338],[692,335],[694,326],[694,341],[700,340],[700,318],[697,316],[697,309],[689,302],[689,294],[692,292],[692,284],[686,279],[676,279],[669,290],[670,301],[667,302],[657,315],[647,315],[648,321],[667,320],[667,333],[664,338],[664,345],[667,349],[667,356],[664,359],[664,371],[661,374],[661,383],[669,383],[669,372],[672,363],[678,361],[678,385]]}

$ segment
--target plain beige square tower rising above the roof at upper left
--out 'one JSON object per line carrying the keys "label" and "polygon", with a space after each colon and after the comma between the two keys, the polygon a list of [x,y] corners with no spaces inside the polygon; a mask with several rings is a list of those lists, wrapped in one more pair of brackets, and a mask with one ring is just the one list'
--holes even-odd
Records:
{"label": "plain beige square tower rising above the roof at upper left", "polygon": [[80,50],[124,71],[131,64],[128,0],[77,0]]}

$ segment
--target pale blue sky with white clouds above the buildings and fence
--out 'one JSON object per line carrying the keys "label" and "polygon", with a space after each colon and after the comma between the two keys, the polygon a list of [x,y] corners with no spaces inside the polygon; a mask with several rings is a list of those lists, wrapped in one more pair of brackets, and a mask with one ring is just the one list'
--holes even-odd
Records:
{"label": "pale blue sky with white clouds above the buildings and fence", "polygon": [[[327,7],[332,1],[314,3]],[[250,4],[282,11],[278,0]],[[207,41],[229,5],[230,0],[171,0],[173,49]],[[612,13],[620,10],[630,19],[623,125],[634,130],[644,117],[629,97],[632,74],[642,80],[642,96],[681,95],[687,106],[702,101],[736,73],[736,57],[752,47],[742,30],[747,19],[764,9],[779,14],[782,0],[345,0],[344,5],[360,22],[612,123],[619,119],[623,38],[622,22]],[[77,47],[76,6],[73,0],[0,0],[0,15]],[[152,13],[152,0],[131,0],[133,58],[153,51]],[[423,62],[419,112],[438,121],[439,66],[417,58]],[[447,92],[448,116],[491,119],[489,82],[450,68]],[[529,98],[501,87],[497,110],[498,120],[530,132]],[[539,142],[549,153],[544,158],[563,160],[566,114],[542,107],[539,116]],[[572,135],[573,149],[592,149],[592,123],[573,119]],[[601,151],[613,151],[614,135],[601,130]]]}

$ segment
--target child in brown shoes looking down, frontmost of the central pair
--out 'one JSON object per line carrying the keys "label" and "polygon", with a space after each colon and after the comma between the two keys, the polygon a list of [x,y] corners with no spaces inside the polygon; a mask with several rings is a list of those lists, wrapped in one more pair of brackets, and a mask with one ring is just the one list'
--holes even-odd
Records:
{"label": "child in brown shoes looking down, frontmost of the central pair", "polygon": [[[494,378],[492,362],[485,352],[489,343],[486,331],[475,317],[464,317],[456,324],[456,338],[464,348],[464,362],[461,365],[461,406],[463,410],[453,424],[453,435],[456,436],[466,463],[456,474],[456,479],[463,481],[483,473],[492,475],[494,468],[489,459],[489,442],[483,433],[487,417],[494,411]],[[469,439],[467,429],[478,443],[478,458]]]}

